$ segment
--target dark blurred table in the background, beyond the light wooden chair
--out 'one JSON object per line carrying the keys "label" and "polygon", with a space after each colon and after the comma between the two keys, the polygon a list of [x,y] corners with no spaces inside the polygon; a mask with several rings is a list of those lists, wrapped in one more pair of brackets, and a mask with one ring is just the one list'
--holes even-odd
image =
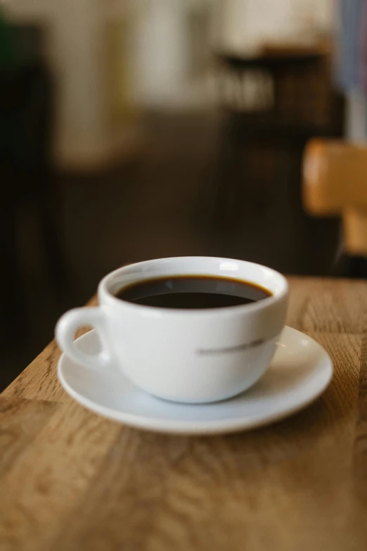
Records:
{"label": "dark blurred table in the background, beyond the light wooden chair", "polygon": [[226,125],[216,220],[238,223],[244,201],[255,208],[260,203],[261,210],[266,186],[282,194],[285,180],[285,193],[295,194],[300,204],[304,145],[311,137],[343,131],[342,99],[333,89],[330,56],[323,48],[269,45],[254,56],[218,53],[217,63]]}

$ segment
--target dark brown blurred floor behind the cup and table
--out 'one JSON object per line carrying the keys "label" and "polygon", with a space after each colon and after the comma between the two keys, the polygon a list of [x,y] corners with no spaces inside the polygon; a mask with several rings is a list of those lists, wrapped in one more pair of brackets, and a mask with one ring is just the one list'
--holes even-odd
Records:
{"label": "dark brown blurred floor behind the cup and table", "polygon": [[[100,175],[58,175],[60,228],[71,289],[53,289],[39,246],[32,205],[19,218],[26,331],[1,353],[0,390],[53,337],[58,316],[82,305],[110,270],[148,258],[223,255],[292,274],[328,274],[338,242],[336,220],[314,220],[300,205],[297,159],[279,149],[252,186],[238,168],[243,194],[234,224],[212,223],[222,121],[198,116],[151,118],[140,156]],[[266,164],[266,156],[276,159]],[[296,165],[295,165],[296,163]],[[229,177],[228,177],[229,178]],[[233,178],[233,176],[231,176]],[[231,182],[224,182],[224,186]]]}

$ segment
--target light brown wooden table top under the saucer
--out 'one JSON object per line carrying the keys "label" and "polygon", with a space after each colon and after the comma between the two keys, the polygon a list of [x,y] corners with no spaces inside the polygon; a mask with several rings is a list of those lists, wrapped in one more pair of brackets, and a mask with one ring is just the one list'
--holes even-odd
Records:
{"label": "light brown wooden table top under the saucer", "polygon": [[52,342],[0,397],[1,551],[365,551],[367,282],[292,278],[288,324],[333,357],[326,393],[207,438],[84,410]]}

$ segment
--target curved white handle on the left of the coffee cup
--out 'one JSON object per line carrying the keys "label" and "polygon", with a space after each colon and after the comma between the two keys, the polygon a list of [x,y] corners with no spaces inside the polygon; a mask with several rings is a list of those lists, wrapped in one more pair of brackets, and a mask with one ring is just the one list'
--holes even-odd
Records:
{"label": "curved white handle on the left of the coffee cup", "polygon": [[[91,325],[101,336],[102,350],[96,355],[86,354],[79,350],[75,343],[75,331],[83,325]],[[60,317],[56,324],[56,341],[61,350],[78,364],[91,369],[105,369],[111,362],[107,350],[105,317],[101,308],[74,308]]]}

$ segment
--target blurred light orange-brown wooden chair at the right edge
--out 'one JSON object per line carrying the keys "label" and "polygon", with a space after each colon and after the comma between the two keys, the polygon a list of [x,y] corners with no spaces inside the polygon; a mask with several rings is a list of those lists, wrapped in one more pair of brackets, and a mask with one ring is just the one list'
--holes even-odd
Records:
{"label": "blurred light orange-brown wooden chair at the right edge", "polygon": [[367,145],[309,141],[303,160],[303,203],[310,215],[342,217],[345,275],[367,277]]}

